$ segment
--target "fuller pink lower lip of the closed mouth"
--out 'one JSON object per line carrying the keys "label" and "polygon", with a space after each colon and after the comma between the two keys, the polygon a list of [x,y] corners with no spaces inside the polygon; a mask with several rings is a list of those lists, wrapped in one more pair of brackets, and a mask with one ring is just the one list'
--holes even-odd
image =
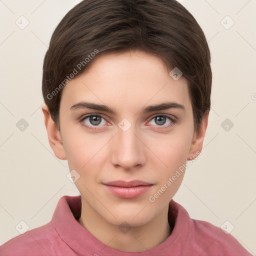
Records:
{"label": "fuller pink lower lip of the closed mouth", "polygon": [[108,191],[118,197],[122,198],[135,198],[141,194],[147,192],[152,185],[145,186],[133,186],[133,187],[121,187],[121,186],[110,186],[104,185]]}

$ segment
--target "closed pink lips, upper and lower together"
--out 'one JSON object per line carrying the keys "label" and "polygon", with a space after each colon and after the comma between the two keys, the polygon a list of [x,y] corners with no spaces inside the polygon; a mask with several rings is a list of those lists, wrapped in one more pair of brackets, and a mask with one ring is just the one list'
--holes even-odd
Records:
{"label": "closed pink lips, upper and lower together", "polygon": [[153,184],[142,180],[114,180],[103,183],[113,195],[122,198],[135,198],[147,192]]}

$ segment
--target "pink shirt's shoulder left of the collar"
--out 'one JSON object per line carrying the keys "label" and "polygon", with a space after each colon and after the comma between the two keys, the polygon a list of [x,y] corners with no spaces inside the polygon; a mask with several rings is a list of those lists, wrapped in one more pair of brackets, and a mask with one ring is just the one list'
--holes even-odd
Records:
{"label": "pink shirt's shoulder left of the collar", "polygon": [[0,246],[0,256],[55,256],[52,242],[58,239],[49,223],[19,234]]}

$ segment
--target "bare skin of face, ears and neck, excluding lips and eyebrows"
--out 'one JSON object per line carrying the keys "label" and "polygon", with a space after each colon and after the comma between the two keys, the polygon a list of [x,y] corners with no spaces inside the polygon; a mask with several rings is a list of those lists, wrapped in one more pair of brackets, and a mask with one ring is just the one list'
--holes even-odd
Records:
{"label": "bare skin of face, ears and neck, excluding lips and eyebrows", "polygon": [[[107,105],[116,114],[71,110],[79,101]],[[145,106],[166,101],[182,104],[185,109],[140,112]],[[162,61],[146,52],[111,53],[95,59],[63,88],[60,131],[45,104],[42,111],[55,156],[67,159],[69,169],[80,175],[75,182],[82,198],[78,222],[98,240],[121,251],[145,251],[162,243],[171,233],[168,204],[184,172],[154,202],[148,198],[179,166],[201,151],[208,121],[207,111],[198,131],[194,131],[186,79],[181,76],[174,80]],[[91,123],[89,118],[80,122],[91,113],[103,117],[99,124]],[[168,118],[159,122],[154,118],[162,114],[176,122]],[[118,126],[123,118],[131,124],[126,131]],[[139,179],[153,186],[139,197],[120,198],[102,184],[118,179]],[[126,233],[118,228],[123,221],[130,226]]]}

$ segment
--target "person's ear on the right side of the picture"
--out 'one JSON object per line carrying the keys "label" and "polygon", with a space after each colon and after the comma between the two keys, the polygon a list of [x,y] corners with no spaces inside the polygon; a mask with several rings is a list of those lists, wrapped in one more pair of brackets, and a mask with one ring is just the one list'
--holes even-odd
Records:
{"label": "person's ear on the right side of the picture", "polygon": [[198,155],[202,150],[202,143],[205,135],[205,131],[208,124],[209,110],[206,111],[204,117],[201,120],[198,131],[194,131],[191,146],[187,156],[187,160],[191,160]]}

